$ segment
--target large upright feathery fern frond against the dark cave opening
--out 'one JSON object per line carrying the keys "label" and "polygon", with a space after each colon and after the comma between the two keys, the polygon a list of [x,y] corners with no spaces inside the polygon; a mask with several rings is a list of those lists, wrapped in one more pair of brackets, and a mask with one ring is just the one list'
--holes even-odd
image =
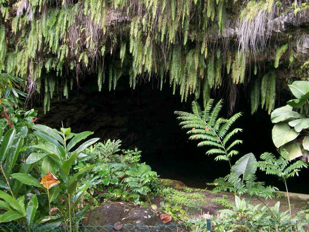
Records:
{"label": "large upright feathery fern frond against the dark cave opening", "polygon": [[218,118],[222,108],[222,100],[214,106],[214,100],[207,101],[205,109],[202,111],[200,105],[192,102],[193,113],[175,111],[179,115],[180,126],[188,129],[187,134],[190,140],[202,140],[197,146],[208,146],[210,148],[206,154],[216,154],[215,160],[226,160],[231,165],[231,157],[238,154],[233,150],[234,146],[242,143],[241,140],[230,141],[232,136],[242,131],[235,128],[231,131],[232,124],[241,116],[241,113],[233,115],[231,118]]}

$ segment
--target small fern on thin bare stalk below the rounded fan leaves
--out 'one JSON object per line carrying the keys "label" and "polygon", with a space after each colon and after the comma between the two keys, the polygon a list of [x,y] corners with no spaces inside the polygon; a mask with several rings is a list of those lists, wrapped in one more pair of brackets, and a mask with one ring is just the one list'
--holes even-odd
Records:
{"label": "small fern on thin bare stalk below the rounded fan leaves", "polygon": [[308,165],[302,160],[291,163],[289,153],[287,151],[282,151],[280,153],[280,157],[278,158],[276,158],[272,153],[267,152],[263,153],[260,158],[262,159],[262,161],[259,161],[257,163],[259,169],[265,171],[266,174],[275,175],[283,181],[286,187],[290,217],[292,219],[290,197],[286,180],[290,177],[294,177],[295,174],[298,176],[298,172],[300,171],[300,169],[305,168]]}

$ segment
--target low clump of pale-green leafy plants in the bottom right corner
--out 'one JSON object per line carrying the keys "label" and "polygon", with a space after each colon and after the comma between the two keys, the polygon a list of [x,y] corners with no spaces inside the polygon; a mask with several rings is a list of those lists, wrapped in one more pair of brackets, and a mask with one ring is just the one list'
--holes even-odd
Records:
{"label": "low clump of pale-green leafy plants in the bottom right corner", "polygon": [[231,209],[222,209],[217,218],[214,218],[213,231],[303,231],[307,224],[306,217],[296,215],[289,217],[288,211],[280,211],[280,202],[274,206],[251,205],[250,199],[235,197],[235,205]]}

